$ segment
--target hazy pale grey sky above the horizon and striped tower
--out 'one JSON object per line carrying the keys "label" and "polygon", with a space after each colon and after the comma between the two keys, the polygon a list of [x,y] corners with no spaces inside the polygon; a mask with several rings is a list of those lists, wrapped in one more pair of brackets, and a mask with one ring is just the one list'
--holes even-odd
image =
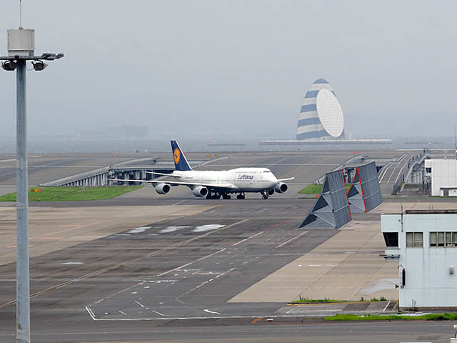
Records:
{"label": "hazy pale grey sky above the horizon and striped tower", "polygon": [[[19,0],[2,0],[6,29]],[[151,136],[291,139],[308,86],[327,79],[353,136],[452,136],[455,1],[24,0],[36,53],[30,134],[139,124]],[[2,136],[15,74],[0,70]]]}

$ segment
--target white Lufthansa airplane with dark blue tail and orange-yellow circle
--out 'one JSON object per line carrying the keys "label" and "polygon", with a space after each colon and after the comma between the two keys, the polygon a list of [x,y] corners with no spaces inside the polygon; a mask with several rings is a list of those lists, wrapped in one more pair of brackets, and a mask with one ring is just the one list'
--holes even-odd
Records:
{"label": "white Lufthansa airplane with dark blue tail and orange-yellow circle", "polygon": [[287,184],[284,181],[289,179],[276,179],[273,173],[267,168],[236,168],[221,171],[199,171],[192,170],[186,156],[181,151],[176,141],[171,141],[175,170],[171,174],[156,173],[164,177],[174,177],[176,181],[167,180],[134,180],[134,179],[113,179],[113,181],[131,181],[151,183],[156,192],[167,194],[170,186],[184,185],[191,189],[196,197],[206,199],[230,199],[231,193],[238,193],[236,199],[244,199],[245,193],[261,193],[263,199],[268,196],[287,191]]}

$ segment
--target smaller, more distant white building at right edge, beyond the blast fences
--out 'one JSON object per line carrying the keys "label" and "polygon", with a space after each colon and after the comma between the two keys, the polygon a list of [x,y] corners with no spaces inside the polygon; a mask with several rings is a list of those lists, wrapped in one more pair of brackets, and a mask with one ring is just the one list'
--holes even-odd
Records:
{"label": "smaller, more distant white building at right edge, beyond the blast fences", "polygon": [[426,176],[431,177],[433,197],[457,196],[457,160],[426,159]]}

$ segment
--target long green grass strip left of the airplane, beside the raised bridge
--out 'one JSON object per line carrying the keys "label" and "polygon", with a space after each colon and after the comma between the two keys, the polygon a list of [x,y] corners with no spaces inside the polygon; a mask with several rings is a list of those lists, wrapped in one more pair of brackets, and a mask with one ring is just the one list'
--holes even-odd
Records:
{"label": "long green grass strip left of the airplane, beside the raised bridge", "polygon": [[[29,202],[81,202],[112,199],[141,187],[34,187],[29,189]],[[41,189],[41,192],[36,192],[37,189]],[[1,196],[0,202],[16,202],[16,192]]]}

